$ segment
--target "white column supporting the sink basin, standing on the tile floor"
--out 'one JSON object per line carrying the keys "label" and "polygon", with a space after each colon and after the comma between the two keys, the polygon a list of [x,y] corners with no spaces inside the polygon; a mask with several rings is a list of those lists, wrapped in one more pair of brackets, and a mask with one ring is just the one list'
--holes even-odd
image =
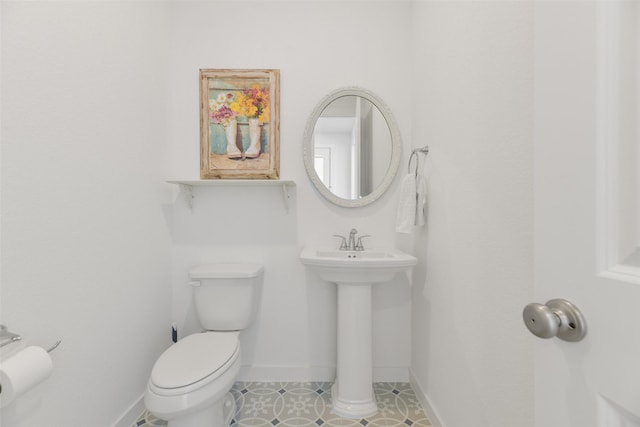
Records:
{"label": "white column supporting the sink basin, standing on the tile floor", "polygon": [[331,388],[333,412],[365,418],[378,412],[373,393],[372,288],[338,282],[338,367]]}

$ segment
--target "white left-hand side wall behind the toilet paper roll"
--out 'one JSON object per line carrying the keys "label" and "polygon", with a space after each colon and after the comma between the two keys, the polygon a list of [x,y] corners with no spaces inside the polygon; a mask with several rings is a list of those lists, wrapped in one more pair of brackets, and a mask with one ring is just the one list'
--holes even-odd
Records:
{"label": "white left-hand side wall behind the toilet paper roll", "polygon": [[169,342],[164,7],[1,2],[1,322],[52,353],[3,427],[106,426]]}

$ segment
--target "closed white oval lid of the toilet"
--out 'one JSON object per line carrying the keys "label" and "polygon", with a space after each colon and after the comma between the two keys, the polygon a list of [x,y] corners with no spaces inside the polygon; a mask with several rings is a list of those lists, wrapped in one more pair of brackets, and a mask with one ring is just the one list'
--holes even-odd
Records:
{"label": "closed white oval lid of the toilet", "polygon": [[[153,365],[151,382],[160,388],[180,388],[220,371],[238,353],[238,332],[189,335],[169,347]],[[218,375],[215,375],[217,377]]]}

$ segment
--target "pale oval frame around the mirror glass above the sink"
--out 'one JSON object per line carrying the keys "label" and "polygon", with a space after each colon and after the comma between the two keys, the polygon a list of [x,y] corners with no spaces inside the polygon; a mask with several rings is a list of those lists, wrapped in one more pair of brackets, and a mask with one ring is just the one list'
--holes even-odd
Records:
{"label": "pale oval frame around the mirror glass above the sink", "polygon": [[[380,185],[378,185],[378,187],[375,188],[371,193],[354,200],[343,199],[333,194],[320,180],[320,177],[316,173],[314,167],[313,131],[316,126],[316,122],[322,115],[324,109],[330,103],[343,96],[360,96],[375,105],[380,113],[382,113],[382,116],[386,120],[387,126],[389,127],[389,132],[391,133],[391,161],[389,162],[389,169],[387,169],[387,174],[384,176],[384,179],[382,180]],[[358,208],[361,206],[366,206],[378,200],[387,191],[387,188],[389,188],[389,186],[393,182],[393,179],[398,172],[401,154],[402,140],[400,138],[400,131],[395,119],[393,118],[391,110],[389,109],[389,107],[387,107],[387,104],[385,104],[385,102],[377,95],[375,95],[371,91],[359,87],[340,88],[325,96],[322,101],[320,101],[320,103],[316,106],[315,110],[313,110],[313,113],[309,117],[307,126],[304,130],[304,146],[302,157],[304,158],[304,167],[307,170],[309,179],[325,199],[333,204],[346,208]]]}

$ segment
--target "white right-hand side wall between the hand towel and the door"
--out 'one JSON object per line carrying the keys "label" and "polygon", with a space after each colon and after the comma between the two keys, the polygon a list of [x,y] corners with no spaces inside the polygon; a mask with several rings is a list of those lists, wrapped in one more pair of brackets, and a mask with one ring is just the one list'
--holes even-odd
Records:
{"label": "white right-hand side wall between the hand towel and the door", "polygon": [[416,2],[412,374],[446,427],[533,424],[530,2]]}

